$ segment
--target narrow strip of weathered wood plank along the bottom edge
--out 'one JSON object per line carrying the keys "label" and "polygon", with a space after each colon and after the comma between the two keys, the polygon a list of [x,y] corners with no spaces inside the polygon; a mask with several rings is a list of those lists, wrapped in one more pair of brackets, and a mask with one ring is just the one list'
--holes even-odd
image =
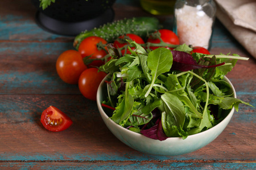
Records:
{"label": "narrow strip of weathered wood plank along the bottom edge", "polygon": [[1,163],[1,169],[255,169],[255,163],[201,163],[201,162],[28,162]]}

